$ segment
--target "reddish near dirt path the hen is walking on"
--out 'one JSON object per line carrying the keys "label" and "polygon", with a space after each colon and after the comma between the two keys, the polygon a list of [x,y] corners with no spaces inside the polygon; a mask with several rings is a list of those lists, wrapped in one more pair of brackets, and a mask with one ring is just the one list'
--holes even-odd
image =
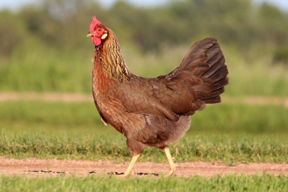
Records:
{"label": "reddish near dirt path the hen is walking on", "polygon": [[[288,164],[275,163],[249,163],[239,164],[237,166],[227,166],[221,162],[190,162],[179,163],[177,176],[187,177],[190,175],[199,175],[211,177],[215,174],[228,174],[237,172],[237,174],[246,173],[247,175],[262,174],[262,172],[273,173],[278,176],[283,173],[288,176]],[[4,159],[0,158],[0,174],[11,175],[31,175],[31,176],[59,176],[62,174],[77,176],[86,176],[93,172],[97,175],[107,174],[108,172],[123,173],[128,166],[128,162],[113,164],[109,161],[76,161],[76,160],[55,160],[55,159]],[[136,163],[134,173],[142,175],[167,173],[168,163],[156,164],[151,162]],[[50,172],[51,171],[51,172]]]}

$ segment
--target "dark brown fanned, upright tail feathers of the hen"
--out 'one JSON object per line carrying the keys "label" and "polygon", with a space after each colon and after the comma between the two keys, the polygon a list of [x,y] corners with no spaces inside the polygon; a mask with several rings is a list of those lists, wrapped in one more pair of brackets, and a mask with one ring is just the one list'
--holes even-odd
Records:
{"label": "dark brown fanned, upright tail feathers of the hen", "polygon": [[[191,71],[199,76],[203,84],[211,88],[211,94],[198,94],[200,100],[206,104],[221,102],[220,94],[224,92],[224,86],[228,85],[228,69],[225,64],[225,58],[217,39],[208,37],[202,41],[196,42],[183,58],[180,66],[172,73],[180,71]],[[212,80],[212,81],[211,81]],[[201,93],[201,87],[196,92]]]}

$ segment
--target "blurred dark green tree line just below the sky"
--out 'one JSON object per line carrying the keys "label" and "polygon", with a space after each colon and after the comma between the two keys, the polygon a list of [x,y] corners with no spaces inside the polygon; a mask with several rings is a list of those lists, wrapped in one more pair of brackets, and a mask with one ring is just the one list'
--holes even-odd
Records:
{"label": "blurred dark green tree line just below the sky", "polygon": [[7,56],[16,44],[33,40],[59,50],[63,45],[72,50],[89,48],[85,34],[94,15],[115,31],[120,43],[145,51],[207,36],[242,50],[253,44],[288,43],[287,15],[273,5],[256,6],[251,0],[182,0],[150,8],[118,1],[108,9],[92,0],[42,0],[18,12],[0,12],[1,54]]}

